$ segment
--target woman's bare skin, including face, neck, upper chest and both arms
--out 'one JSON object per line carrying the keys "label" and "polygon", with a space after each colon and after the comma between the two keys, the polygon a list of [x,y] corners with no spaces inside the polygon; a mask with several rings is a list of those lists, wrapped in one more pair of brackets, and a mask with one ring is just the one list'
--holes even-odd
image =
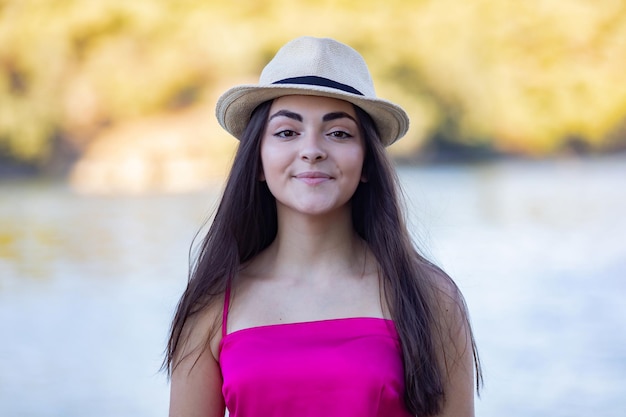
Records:
{"label": "woman's bare skin, including face, neck, upper chest and both arms", "polygon": [[[261,143],[260,180],[276,198],[278,233],[234,282],[228,333],[341,317],[389,318],[376,261],[351,223],[350,199],[366,181],[364,153],[350,103],[315,96],[273,102]],[[451,329],[451,343],[469,346],[453,301],[442,297],[444,328]],[[179,349],[172,373],[172,417],[224,415],[221,316],[222,304],[216,302],[185,328],[189,340]],[[207,340],[209,348],[202,349]],[[470,352],[465,349],[450,368],[442,416],[473,415]]]}

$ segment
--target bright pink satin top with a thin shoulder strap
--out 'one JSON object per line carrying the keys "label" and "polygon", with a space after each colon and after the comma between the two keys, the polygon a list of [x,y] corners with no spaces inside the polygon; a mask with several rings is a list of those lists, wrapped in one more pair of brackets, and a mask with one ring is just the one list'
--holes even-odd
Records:
{"label": "bright pink satin top with a thin shoulder strap", "polygon": [[391,320],[341,318],[226,334],[222,393],[231,417],[407,417],[400,343]]}

